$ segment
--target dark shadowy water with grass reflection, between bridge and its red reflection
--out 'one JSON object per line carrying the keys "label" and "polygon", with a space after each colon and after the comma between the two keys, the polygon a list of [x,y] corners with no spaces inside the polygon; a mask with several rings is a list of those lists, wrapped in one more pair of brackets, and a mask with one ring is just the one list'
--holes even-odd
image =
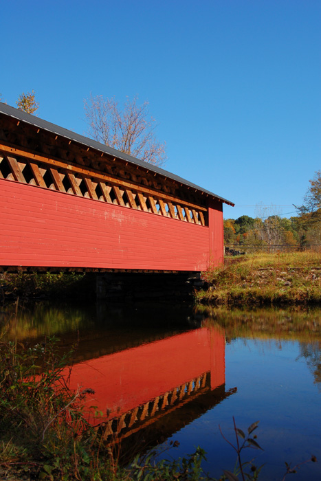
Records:
{"label": "dark shadowy water with grass reflection, between bridge and its red reflection", "polygon": [[36,344],[56,336],[61,346],[76,343],[77,353],[90,359],[189,331],[203,317],[185,304],[12,304],[0,309],[0,337]]}

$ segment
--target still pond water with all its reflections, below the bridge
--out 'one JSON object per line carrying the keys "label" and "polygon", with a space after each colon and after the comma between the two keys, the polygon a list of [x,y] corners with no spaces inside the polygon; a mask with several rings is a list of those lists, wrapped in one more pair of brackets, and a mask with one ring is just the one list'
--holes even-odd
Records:
{"label": "still pond water with all its reflections, below the bridge", "polygon": [[[127,449],[146,444],[197,445],[207,452],[205,471],[232,470],[237,427],[260,421],[264,451],[244,460],[263,465],[261,480],[281,480],[285,461],[303,465],[296,481],[321,479],[321,310],[196,311],[170,304],[38,303],[0,314],[6,336],[28,343],[56,335],[61,349],[77,343],[71,387],[95,394],[104,436]],[[135,449],[134,449],[135,447]],[[290,476],[291,478],[291,476]]]}

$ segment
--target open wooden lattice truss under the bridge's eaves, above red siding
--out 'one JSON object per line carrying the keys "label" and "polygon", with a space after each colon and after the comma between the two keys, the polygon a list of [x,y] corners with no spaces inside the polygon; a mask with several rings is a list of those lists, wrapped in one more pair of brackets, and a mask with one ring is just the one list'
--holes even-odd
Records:
{"label": "open wooden lattice truss under the bridge's eaves, above red siding", "polygon": [[15,120],[0,119],[0,178],[208,225],[207,194]]}

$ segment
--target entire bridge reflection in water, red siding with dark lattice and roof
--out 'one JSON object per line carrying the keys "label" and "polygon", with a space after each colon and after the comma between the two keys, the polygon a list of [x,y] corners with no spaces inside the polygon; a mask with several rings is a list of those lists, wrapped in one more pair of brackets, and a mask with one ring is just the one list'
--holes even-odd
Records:
{"label": "entire bridge reflection in water, red siding with dark lattice and roof", "polygon": [[70,387],[79,385],[94,390],[90,405],[103,416],[91,423],[113,441],[151,425],[155,439],[157,429],[167,437],[234,392],[225,392],[225,337],[214,326],[77,363]]}

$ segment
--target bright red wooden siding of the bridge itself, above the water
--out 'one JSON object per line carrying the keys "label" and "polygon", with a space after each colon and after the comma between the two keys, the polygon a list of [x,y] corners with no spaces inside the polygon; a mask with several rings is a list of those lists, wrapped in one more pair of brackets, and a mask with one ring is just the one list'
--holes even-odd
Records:
{"label": "bright red wooden siding of the bridge itself, above the water", "polygon": [[0,265],[201,271],[223,256],[221,210],[203,227],[0,179]]}

